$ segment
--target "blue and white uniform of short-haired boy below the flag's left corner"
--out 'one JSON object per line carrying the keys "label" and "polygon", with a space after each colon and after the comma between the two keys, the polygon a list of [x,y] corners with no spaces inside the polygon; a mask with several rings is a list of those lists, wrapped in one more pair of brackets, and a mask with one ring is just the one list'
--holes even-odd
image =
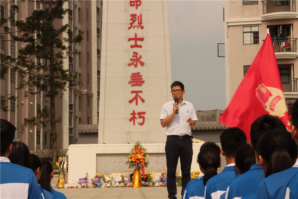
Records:
{"label": "blue and white uniform of short-haired boy below the flag's left corner", "polygon": [[205,198],[224,198],[229,184],[236,178],[235,163],[227,165],[224,170],[210,178],[206,183]]}

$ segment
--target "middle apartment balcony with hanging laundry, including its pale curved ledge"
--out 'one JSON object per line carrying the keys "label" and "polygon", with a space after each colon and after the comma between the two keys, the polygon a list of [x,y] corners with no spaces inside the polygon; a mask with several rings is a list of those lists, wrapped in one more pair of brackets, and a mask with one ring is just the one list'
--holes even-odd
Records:
{"label": "middle apartment balcony with hanging laundry, including its pale curved ledge", "polygon": [[298,57],[297,38],[272,38],[276,59],[295,59]]}

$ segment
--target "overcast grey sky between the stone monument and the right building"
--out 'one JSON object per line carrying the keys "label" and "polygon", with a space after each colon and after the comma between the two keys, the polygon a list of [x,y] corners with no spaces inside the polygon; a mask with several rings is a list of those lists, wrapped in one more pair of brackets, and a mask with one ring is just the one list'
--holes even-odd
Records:
{"label": "overcast grey sky between the stone monument and the right building", "polygon": [[184,84],[184,100],[195,111],[226,108],[224,1],[169,0],[172,81]]}

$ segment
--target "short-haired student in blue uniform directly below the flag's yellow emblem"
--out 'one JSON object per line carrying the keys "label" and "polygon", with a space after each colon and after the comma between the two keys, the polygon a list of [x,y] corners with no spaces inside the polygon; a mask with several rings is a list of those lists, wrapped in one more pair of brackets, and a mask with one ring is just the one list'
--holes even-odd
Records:
{"label": "short-haired student in blue uniform directly below the flag's yellow emblem", "polygon": [[[250,128],[250,146],[254,149],[256,162],[251,166],[248,172],[238,176],[233,180],[226,192],[226,198],[254,198],[257,188],[265,178],[262,166],[259,160],[257,143],[263,135],[272,129],[287,129],[283,122],[272,115],[262,115],[258,117],[251,125]],[[243,187],[247,187],[243,189]]]}

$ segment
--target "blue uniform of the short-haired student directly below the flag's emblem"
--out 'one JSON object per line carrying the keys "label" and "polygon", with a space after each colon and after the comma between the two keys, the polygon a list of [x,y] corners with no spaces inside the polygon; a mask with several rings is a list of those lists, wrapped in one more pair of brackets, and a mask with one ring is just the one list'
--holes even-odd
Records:
{"label": "blue uniform of the short-haired student directly below the flag's emblem", "polygon": [[[233,180],[227,191],[226,199],[242,198],[243,196],[256,193],[260,182],[265,178],[261,164],[254,164],[249,171]],[[254,197],[253,197],[254,198]]]}

